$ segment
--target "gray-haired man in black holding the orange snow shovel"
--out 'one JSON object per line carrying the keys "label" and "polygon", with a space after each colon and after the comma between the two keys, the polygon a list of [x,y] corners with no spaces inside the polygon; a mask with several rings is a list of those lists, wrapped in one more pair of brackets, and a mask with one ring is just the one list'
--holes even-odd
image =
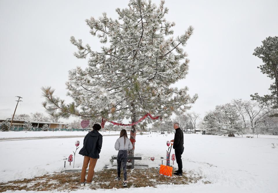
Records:
{"label": "gray-haired man in black holding the orange snow shovel", "polygon": [[180,129],[179,123],[174,123],[174,129],[176,130],[175,137],[171,142],[173,143],[173,149],[175,149],[176,161],[178,163],[178,170],[174,173],[174,175],[182,176],[182,153],[184,150],[183,147],[183,133]]}

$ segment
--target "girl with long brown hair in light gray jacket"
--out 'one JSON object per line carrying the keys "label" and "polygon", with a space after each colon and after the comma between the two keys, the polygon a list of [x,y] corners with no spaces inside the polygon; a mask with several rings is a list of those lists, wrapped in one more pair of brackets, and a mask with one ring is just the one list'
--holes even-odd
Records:
{"label": "girl with long brown hair in light gray jacket", "polygon": [[131,150],[132,148],[132,143],[127,137],[127,131],[125,129],[122,129],[120,132],[120,138],[118,138],[115,143],[115,149],[119,151],[117,156],[118,176],[115,177],[115,179],[121,179],[120,175],[122,164],[122,170],[124,172],[124,182],[122,183],[123,186],[127,186],[127,150]]}

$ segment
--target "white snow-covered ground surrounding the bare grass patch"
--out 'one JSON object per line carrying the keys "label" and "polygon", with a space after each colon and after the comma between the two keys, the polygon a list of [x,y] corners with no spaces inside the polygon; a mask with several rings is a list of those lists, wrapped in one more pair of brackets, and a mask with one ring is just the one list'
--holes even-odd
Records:
{"label": "white snow-covered ground surrounding the bare grass patch", "polygon": [[[117,136],[103,137],[103,148],[96,170],[109,165],[111,155],[117,154],[114,149],[116,139]],[[161,164],[160,157],[166,157],[166,141],[171,139],[173,139],[172,134],[137,135],[135,152],[142,155],[142,160],[135,163],[158,167]],[[64,170],[63,157],[73,154],[76,140],[80,140],[82,146],[83,138],[0,141],[2,157],[0,181],[32,178],[48,172]],[[275,143],[277,148],[271,148],[271,143]],[[277,139],[184,134],[185,150],[182,155],[184,171],[193,171],[212,184],[200,182],[190,185],[159,185],[158,188],[133,188],[132,191],[145,193],[182,190],[186,192],[277,192],[278,145],[276,144],[278,144]],[[150,157],[155,157],[155,160],[152,162]],[[165,160],[163,162],[165,163]],[[75,168],[81,169],[82,163],[83,157],[77,155]],[[174,163],[174,166],[177,164]],[[66,169],[73,169],[68,162]],[[115,191],[114,189],[104,190],[106,193]],[[85,189],[78,192],[103,192],[103,190]]]}

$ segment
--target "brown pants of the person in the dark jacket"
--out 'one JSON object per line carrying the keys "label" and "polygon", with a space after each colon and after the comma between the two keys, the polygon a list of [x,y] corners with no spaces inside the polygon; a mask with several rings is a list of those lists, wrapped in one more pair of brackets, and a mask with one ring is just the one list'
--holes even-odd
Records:
{"label": "brown pants of the person in the dark jacket", "polygon": [[87,176],[87,183],[92,182],[92,178],[94,176],[94,169],[96,166],[96,161],[98,161],[98,159],[84,156],[83,167],[82,167],[82,172],[81,172],[81,183],[85,182],[86,170],[87,170],[89,162],[90,162],[90,164],[89,164],[89,170],[88,170],[88,176]]}

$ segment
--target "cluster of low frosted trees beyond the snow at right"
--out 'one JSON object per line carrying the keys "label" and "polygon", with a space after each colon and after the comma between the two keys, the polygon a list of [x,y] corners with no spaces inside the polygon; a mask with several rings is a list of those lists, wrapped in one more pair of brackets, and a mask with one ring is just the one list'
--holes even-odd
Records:
{"label": "cluster of low frosted trees beyond the snow at right", "polygon": [[[224,105],[217,105],[215,109],[205,114],[202,126],[207,134],[229,135],[245,134],[251,128],[256,133],[269,133],[268,129],[278,124],[277,117],[272,116],[270,106],[253,100],[233,99]],[[256,132],[255,132],[256,130]]]}

